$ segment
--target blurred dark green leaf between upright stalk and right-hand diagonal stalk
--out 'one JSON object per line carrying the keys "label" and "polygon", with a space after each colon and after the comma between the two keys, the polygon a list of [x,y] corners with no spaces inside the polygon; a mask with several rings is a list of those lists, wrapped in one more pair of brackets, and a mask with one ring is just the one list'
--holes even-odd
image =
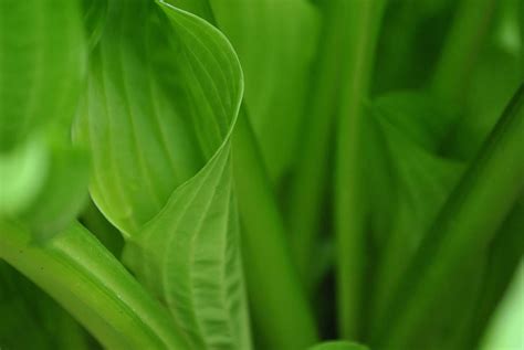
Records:
{"label": "blurred dark green leaf between upright stalk and right-hand diagonal stalk", "polygon": [[464,166],[439,153],[453,119],[430,95],[390,93],[370,110],[369,215],[380,256],[371,320],[377,321]]}

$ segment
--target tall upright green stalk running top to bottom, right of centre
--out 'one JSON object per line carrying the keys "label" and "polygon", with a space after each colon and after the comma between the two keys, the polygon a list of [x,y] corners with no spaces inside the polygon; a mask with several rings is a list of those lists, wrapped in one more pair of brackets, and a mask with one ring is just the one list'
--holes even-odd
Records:
{"label": "tall upright green stalk running top to bottom, right of centre", "polygon": [[364,102],[368,98],[377,36],[385,0],[339,0],[347,18],[344,39],[345,70],[337,123],[335,170],[335,230],[337,240],[337,298],[340,336],[359,333],[364,284],[365,205],[361,174]]}

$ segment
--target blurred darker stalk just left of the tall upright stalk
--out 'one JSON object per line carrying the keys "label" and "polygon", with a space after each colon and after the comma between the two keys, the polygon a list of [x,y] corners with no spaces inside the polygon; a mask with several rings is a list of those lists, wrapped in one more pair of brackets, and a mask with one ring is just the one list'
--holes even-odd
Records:
{"label": "blurred darker stalk just left of the tall upright stalk", "polygon": [[347,11],[339,1],[326,1],[307,116],[290,191],[291,247],[301,278],[311,289],[313,250],[321,229],[327,189],[329,137],[339,99],[339,76]]}

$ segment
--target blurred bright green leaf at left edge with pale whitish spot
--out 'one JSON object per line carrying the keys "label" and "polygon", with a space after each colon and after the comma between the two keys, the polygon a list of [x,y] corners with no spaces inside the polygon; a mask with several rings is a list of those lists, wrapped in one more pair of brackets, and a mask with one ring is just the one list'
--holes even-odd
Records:
{"label": "blurred bright green leaf at left edge with pale whitish spot", "polygon": [[80,2],[2,1],[0,26],[0,215],[54,232],[87,193],[87,159],[70,145],[85,72]]}

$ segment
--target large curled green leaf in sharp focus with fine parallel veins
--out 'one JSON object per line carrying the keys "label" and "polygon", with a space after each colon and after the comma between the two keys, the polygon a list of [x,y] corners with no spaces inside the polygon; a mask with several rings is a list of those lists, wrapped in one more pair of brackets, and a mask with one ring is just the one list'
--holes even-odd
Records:
{"label": "large curled green leaf in sharp focus with fine parallel veins", "polygon": [[250,348],[229,146],[242,91],[212,25],[165,2],[111,1],[76,138],[127,264],[196,349]]}

